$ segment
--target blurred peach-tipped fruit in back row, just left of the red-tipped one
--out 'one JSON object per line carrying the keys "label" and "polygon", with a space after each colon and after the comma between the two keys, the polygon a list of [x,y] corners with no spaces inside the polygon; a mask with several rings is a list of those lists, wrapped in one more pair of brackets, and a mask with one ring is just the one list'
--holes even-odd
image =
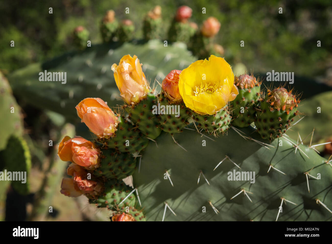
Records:
{"label": "blurred peach-tipped fruit in back row, just left of the red-tipped one", "polygon": [[143,20],[143,36],[145,40],[159,39],[162,26],[161,7],[155,6]]}

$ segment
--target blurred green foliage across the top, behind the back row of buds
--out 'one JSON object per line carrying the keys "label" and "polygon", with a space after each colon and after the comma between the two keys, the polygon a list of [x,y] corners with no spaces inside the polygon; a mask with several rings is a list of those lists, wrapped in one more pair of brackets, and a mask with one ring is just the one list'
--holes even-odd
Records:
{"label": "blurred green foliage across the top, behind the back row of buds", "polygon": [[[227,60],[244,63],[255,72],[288,70],[305,76],[331,76],[332,6],[329,0],[308,1],[5,1],[0,6],[0,67],[4,73],[72,49],[70,34],[78,26],[90,31],[92,43],[101,42],[99,23],[106,10],[118,19],[133,21],[135,37],[142,37],[142,19],[155,5],[162,6],[166,39],[176,8],[193,9],[199,25],[209,16],[221,22],[216,42]],[[48,8],[53,8],[53,14]],[[125,8],[129,7],[129,14]],[[206,14],[202,14],[202,8]],[[279,14],[279,8],[283,14]],[[15,48],[5,43],[15,40]],[[240,48],[241,40],[245,41]],[[321,47],[317,47],[317,40]]]}

